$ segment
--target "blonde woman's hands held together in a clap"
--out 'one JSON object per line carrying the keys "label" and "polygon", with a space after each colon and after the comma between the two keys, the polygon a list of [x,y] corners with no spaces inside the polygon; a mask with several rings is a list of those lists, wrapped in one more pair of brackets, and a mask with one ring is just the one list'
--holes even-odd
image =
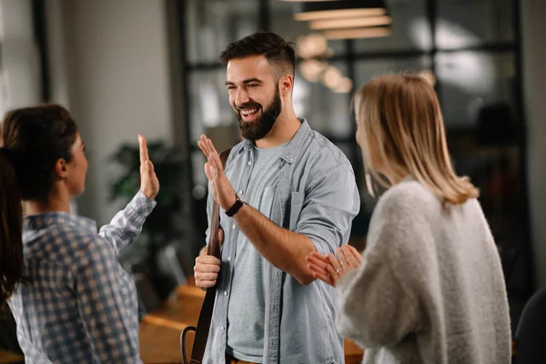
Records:
{"label": "blonde woman's hands held together in a clap", "polygon": [[338,248],[338,258],[333,254],[325,256],[318,252],[312,252],[306,260],[308,268],[313,272],[313,277],[320,279],[330,286],[336,287],[339,279],[351,270],[359,268],[362,256],[359,251],[349,244]]}

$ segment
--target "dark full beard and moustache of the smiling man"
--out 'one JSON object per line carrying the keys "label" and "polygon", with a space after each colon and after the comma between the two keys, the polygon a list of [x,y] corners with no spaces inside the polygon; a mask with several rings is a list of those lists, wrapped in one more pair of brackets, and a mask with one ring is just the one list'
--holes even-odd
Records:
{"label": "dark full beard and moustache of the smiling man", "polygon": [[[252,121],[244,121],[241,116],[241,109],[258,108],[258,112],[261,109],[262,115],[258,119]],[[243,106],[237,106],[235,115],[238,117],[238,126],[241,136],[248,139],[251,142],[256,142],[268,135],[269,130],[275,125],[277,117],[280,115],[282,105],[280,102],[280,93],[277,88],[277,92],[273,97],[273,101],[269,104],[267,109],[263,109],[258,103],[247,103]]]}

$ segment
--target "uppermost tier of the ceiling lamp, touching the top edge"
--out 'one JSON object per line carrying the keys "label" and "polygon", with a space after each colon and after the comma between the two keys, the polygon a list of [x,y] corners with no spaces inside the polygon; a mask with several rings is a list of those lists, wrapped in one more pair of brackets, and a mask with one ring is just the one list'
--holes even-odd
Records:
{"label": "uppermost tier of the ceiling lamp, touching the top edge", "polygon": [[384,0],[330,0],[300,2],[295,6],[295,20],[313,21],[357,18],[387,14]]}

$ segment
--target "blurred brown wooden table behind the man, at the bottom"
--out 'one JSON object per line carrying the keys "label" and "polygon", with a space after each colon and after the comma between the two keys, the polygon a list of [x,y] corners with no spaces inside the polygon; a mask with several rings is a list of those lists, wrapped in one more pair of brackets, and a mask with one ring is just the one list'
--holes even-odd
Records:
{"label": "blurred brown wooden table behind the man, at the bottom", "polygon": [[[195,326],[205,292],[193,285],[177,288],[162,308],[148,314],[140,323],[140,357],[147,364],[180,363],[180,333],[187,326]],[[193,332],[188,334],[187,348],[191,348]],[[362,349],[345,339],[346,364],[358,364]]]}

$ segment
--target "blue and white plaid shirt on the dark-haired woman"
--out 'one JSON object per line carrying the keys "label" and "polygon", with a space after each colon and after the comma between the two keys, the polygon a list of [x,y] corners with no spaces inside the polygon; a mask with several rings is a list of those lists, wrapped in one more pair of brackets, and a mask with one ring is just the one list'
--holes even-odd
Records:
{"label": "blue and white plaid shirt on the dark-haired woman", "polygon": [[136,288],[117,255],[156,202],[142,192],[96,234],[85,217],[25,217],[28,286],[8,303],[26,363],[140,363]]}

